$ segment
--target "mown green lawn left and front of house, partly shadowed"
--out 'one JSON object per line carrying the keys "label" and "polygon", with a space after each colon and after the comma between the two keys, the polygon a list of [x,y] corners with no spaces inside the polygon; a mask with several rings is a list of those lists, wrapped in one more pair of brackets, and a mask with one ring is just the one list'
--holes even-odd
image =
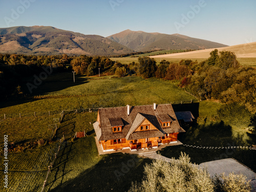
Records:
{"label": "mown green lawn left and front of house, partly shadowed", "polygon": [[[58,145],[56,142],[9,154],[9,188],[5,191],[41,191]],[[0,160],[3,162],[3,156]],[[65,141],[44,191],[127,191],[132,181],[142,178],[145,163],[151,160],[120,153],[98,156],[94,137],[80,138],[73,143]]]}

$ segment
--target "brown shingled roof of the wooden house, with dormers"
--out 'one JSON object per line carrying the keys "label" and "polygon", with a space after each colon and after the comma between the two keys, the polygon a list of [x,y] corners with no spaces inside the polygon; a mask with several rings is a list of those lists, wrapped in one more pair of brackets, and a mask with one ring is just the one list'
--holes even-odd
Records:
{"label": "brown shingled roof of the wooden house, with dormers", "polygon": [[[99,141],[122,138],[126,138],[128,140],[143,139],[160,137],[167,133],[185,132],[180,127],[171,104],[158,104],[156,110],[154,110],[153,104],[130,106],[130,115],[127,115],[127,106],[120,106],[116,108],[101,108],[98,110],[98,113],[100,126],[97,122],[93,123],[93,126]],[[163,114],[167,114],[172,119],[170,127],[162,127],[159,116],[162,117]],[[122,118],[122,132],[113,133],[110,119],[118,118]],[[158,130],[134,132],[136,127],[138,127],[145,118],[150,121]]]}

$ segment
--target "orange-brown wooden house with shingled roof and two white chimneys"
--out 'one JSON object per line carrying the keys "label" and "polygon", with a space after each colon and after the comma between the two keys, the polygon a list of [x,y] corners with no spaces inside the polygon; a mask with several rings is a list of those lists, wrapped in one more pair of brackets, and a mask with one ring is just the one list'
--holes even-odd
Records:
{"label": "orange-brown wooden house with shingled roof and two white chimneys", "polygon": [[172,104],[101,108],[93,126],[104,152],[157,148],[176,143],[178,133],[185,132]]}

